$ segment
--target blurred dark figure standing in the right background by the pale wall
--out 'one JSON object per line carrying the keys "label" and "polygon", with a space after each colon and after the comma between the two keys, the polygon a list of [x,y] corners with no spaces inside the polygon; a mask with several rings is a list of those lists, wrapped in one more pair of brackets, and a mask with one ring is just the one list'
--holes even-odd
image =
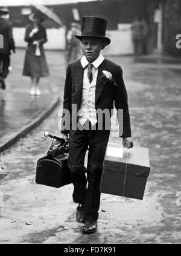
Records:
{"label": "blurred dark figure standing in the right background by the pale wall", "polygon": [[142,26],[141,18],[139,16],[136,16],[135,21],[133,21],[132,23],[132,39],[133,39],[134,54],[141,55],[142,41],[143,41],[143,26]]}

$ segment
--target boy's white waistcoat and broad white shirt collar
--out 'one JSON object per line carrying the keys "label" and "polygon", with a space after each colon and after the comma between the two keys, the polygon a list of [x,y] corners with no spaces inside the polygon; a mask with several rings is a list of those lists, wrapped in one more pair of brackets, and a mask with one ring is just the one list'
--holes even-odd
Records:
{"label": "boy's white waistcoat and broad white shirt collar", "polygon": [[87,71],[87,65],[89,62],[86,57],[83,56],[80,60],[82,67],[84,68],[83,74],[83,91],[80,110],[78,111],[79,122],[84,125],[88,119],[92,125],[97,123],[97,114],[95,110],[95,87],[97,83],[98,67],[104,61],[104,57],[100,54],[94,62],[92,62],[92,82],[89,82]]}

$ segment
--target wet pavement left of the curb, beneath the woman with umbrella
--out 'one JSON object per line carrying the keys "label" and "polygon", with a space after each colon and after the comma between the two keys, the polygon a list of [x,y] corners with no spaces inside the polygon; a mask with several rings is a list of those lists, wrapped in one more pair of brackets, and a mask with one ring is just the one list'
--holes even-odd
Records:
{"label": "wet pavement left of the curb, beneath the woman with umbrella", "polygon": [[24,53],[24,50],[17,49],[16,54],[11,55],[13,70],[6,79],[7,89],[0,90],[0,151],[46,117],[63,93],[60,70],[65,67],[64,56],[48,51],[50,76],[40,79],[42,95],[30,96],[30,77],[22,76]]}

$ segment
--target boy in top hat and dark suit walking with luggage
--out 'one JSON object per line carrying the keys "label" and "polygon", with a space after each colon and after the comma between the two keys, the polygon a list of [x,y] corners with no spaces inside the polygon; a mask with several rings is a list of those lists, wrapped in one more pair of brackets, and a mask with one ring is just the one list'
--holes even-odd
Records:
{"label": "boy in top hat and dark suit walking with luggage", "polygon": [[[110,134],[110,129],[105,128],[106,120],[101,120],[103,128],[98,127],[98,109],[109,110],[111,116],[115,102],[116,110],[123,110],[123,133],[120,137],[123,138],[123,146],[133,146],[122,69],[101,54],[101,50],[110,44],[110,39],[105,36],[106,26],[105,19],[83,17],[81,35],[75,37],[81,41],[84,56],[67,67],[63,100],[61,135],[67,140],[69,134],[68,165],[74,184],[73,200],[78,203],[76,217],[78,222],[84,223],[82,231],[87,234],[97,229],[101,174]],[[69,111],[71,119],[76,111],[77,116],[73,119],[76,119],[77,128],[73,123],[70,129],[65,125],[68,122],[66,111]]]}

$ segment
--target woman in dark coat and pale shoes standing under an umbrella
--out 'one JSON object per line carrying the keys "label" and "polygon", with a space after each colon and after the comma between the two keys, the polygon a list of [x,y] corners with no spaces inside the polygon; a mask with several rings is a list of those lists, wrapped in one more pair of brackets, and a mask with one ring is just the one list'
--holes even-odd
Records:
{"label": "woman in dark coat and pale shoes standing under an umbrella", "polygon": [[47,42],[46,30],[42,22],[44,17],[40,13],[33,13],[29,16],[31,24],[27,26],[25,33],[25,41],[28,42],[28,47],[24,62],[24,76],[31,77],[30,95],[41,94],[39,89],[40,77],[49,75],[48,65],[46,63],[43,44]]}

